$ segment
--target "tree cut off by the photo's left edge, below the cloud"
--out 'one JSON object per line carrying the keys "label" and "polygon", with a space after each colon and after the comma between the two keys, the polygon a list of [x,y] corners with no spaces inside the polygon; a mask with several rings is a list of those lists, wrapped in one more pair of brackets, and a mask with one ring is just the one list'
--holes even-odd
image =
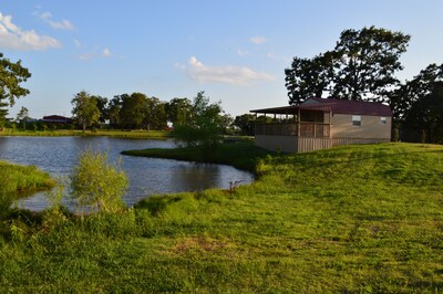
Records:
{"label": "tree cut off by the photo's left edge, below the cloud", "polygon": [[21,65],[20,60],[14,63],[0,53],[0,128],[6,123],[7,107],[13,106],[17,98],[29,94],[29,90],[21,86],[29,77],[31,73]]}

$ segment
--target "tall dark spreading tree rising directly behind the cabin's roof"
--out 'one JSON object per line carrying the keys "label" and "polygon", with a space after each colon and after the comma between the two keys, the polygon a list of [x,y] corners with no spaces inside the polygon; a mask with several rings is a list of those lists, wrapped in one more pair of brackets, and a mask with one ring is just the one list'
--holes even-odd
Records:
{"label": "tall dark spreading tree rising directly behind the cabin's roof", "polygon": [[295,57],[286,73],[289,103],[327,92],[353,101],[387,101],[399,84],[400,56],[410,35],[374,27],[344,30],[332,51],[313,59]]}

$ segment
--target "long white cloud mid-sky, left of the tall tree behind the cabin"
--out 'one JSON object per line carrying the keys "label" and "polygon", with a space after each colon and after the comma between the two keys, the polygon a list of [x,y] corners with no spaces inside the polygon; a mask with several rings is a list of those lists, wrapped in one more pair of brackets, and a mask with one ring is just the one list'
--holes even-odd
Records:
{"label": "long white cloud mid-sky, left of the tall tree behind the cabin", "polygon": [[246,66],[207,66],[199,62],[195,56],[189,59],[188,66],[185,66],[184,69],[190,78],[200,83],[216,82],[245,86],[255,81],[274,80],[274,76],[267,73],[256,72]]}

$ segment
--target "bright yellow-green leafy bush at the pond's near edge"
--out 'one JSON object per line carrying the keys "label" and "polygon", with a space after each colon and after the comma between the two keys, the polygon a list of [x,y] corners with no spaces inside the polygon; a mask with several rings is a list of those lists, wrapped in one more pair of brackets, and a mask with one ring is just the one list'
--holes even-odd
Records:
{"label": "bright yellow-green leafy bush at the pond's near edge", "polygon": [[120,164],[107,161],[107,154],[92,150],[80,155],[71,174],[71,197],[82,207],[105,212],[120,211],[127,178]]}

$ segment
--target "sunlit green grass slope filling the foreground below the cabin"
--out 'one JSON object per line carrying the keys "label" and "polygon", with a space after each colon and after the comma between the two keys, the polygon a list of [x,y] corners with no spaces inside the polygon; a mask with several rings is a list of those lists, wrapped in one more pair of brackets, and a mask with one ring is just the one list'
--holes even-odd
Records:
{"label": "sunlit green grass slope filling the foreground below the cabin", "polygon": [[443,291],[443,146],[360,145],[302,155],[228,148],[230,157],[237,150],[256,162],[256,182],[156,196],[117,214],[49,210],[13,221],[0,239],[0,288]]}

